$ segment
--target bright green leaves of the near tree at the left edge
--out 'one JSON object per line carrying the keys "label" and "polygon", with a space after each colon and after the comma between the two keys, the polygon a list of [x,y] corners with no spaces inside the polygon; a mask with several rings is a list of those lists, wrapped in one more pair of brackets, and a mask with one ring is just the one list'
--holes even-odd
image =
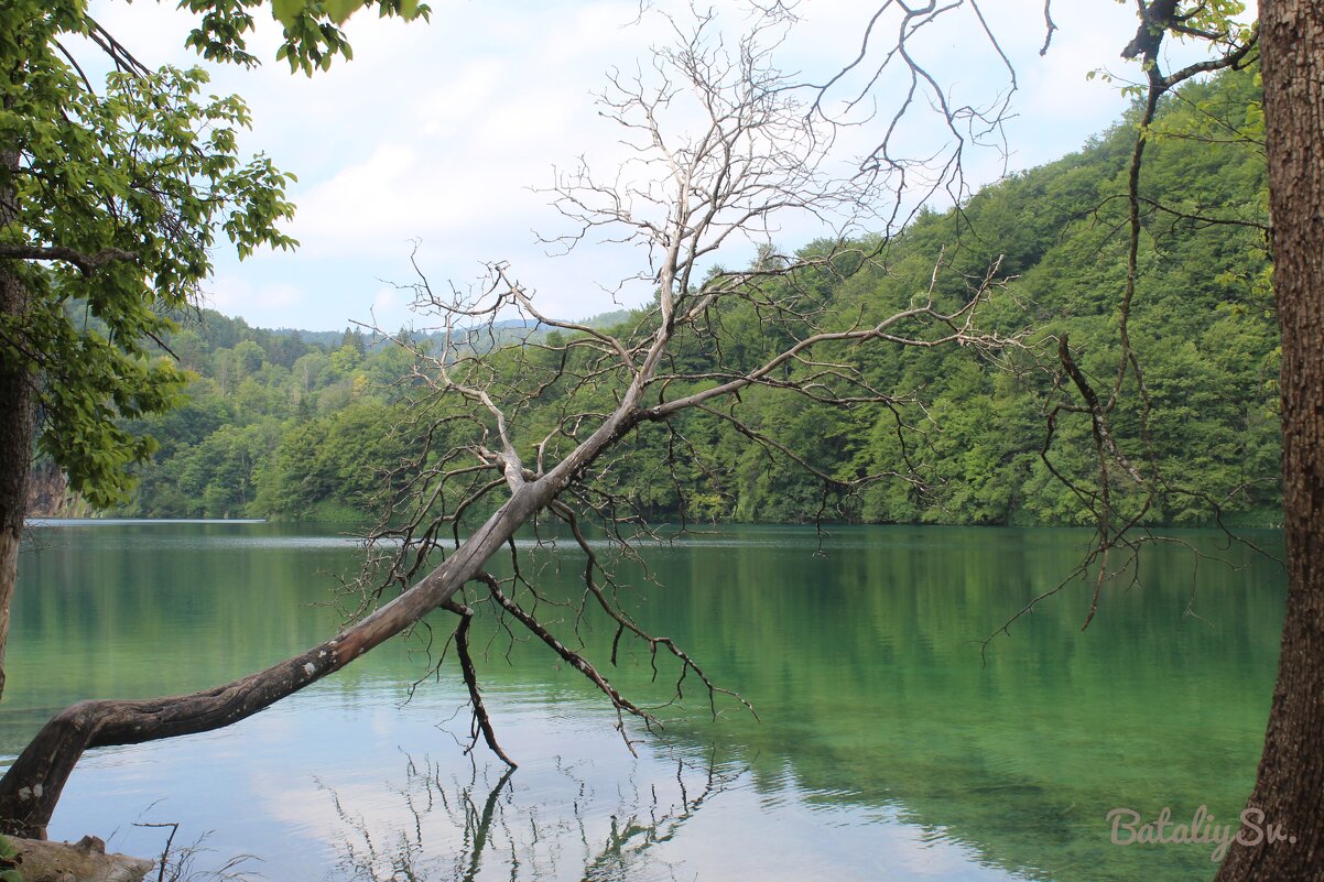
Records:
{"label": "bright green leaves of the near tree at the left edge", "polygon": [[[99,87],[66,56],[73,37],[109,46],[117,70]],[[208,97],[207,81],[143,68],[82,0],[16,0],[0,17],[0,154],[13,158],[0,163],[13,203],[0,245],[19,254],[7,269],[28,293],[26,309],[0,315],[0,355],[41,377],[40,449],[99,506],[126,498],[127,466],[155,449],[115,420],[180,400],[187,375],[152,340],[209,274],[217,234],[240,256],[295,244],[277,228],[293,216],[291,177],[238,156],[248,109]]]}

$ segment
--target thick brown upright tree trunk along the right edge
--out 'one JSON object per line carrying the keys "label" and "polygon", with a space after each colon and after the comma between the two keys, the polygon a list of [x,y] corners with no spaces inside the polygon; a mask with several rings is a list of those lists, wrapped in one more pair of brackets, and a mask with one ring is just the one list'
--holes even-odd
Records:
{"label": "thick brown upright tree trunk along the right edge", "polygon": [[[1260,0],[1274,291],[1283,338],[1287,618],[1249,808],[1292,840],[1235,844],[1218,882],[1324,879],[1324,4]],[[1256,837],[1247,836],[1247,840]]]}

